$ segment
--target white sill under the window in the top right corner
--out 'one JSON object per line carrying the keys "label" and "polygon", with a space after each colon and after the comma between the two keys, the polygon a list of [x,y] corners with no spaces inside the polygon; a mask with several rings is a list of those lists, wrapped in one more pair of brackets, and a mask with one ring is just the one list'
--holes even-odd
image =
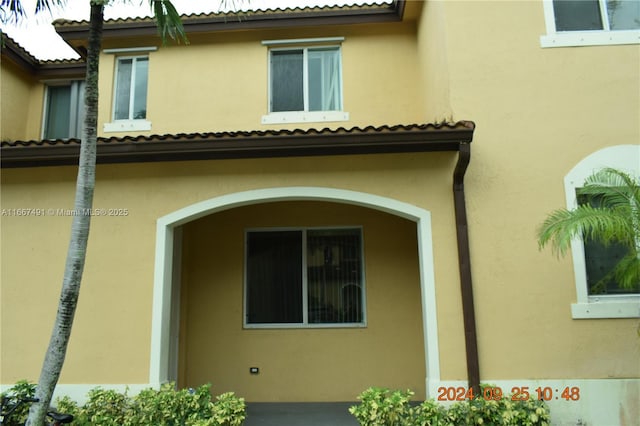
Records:
{"label": "white sill under the window in the top right corner", "polygon": [[540,36],[541,47],[640,44],[640,31],[566,31]]}

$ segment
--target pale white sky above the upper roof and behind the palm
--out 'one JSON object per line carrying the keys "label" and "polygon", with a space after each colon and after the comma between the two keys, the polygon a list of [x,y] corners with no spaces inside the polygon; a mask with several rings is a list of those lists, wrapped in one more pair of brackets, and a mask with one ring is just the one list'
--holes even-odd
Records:
{"label": "pale white sky above the upper roof and behind the palm", "polygon": [[[89,20],[89,0],[67,0],[66,7],[43,12],[38,16],[30,13],[35,9],[35,0],[21,0],[27,11],[26,19],[14,25],[0,24],[0,28],[27,52],[40,60],[75,59],[79,56],[55,32],[51,23],[55,19]],[[230,0],[227,0],[229,3]],[[249,1],[235,0],[242,8]],[[224,0],[173,0],[181,14],[216,12]],[[273,9],[277,7],[327,6],[336,4],[387,3],[388,1],[363,0],[250,0],[251,9]],[[148,0],[112,1],[105,7],[105,19],[134,16],[151,16]]]}

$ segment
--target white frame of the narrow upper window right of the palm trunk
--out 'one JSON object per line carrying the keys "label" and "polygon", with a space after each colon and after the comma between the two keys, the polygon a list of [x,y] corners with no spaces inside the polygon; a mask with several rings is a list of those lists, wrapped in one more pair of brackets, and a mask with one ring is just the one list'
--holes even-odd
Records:
{"label": "white frame of the narrow upper window right of the palm trunk", "polygon": [[[103,130],[105,132],[127,132],[127,131],[150,131],[151,130],[151,121],[147,118],[143,119],[124,119],[124,120],[116,120],[115,119],[115,109],[116,109],[116,96],[117,96],[117,81],[118,81],[118,68],[120,66],[120,61],[124,59],[133,59],[134,62],[138,58],[146,58],[149,61],[150,65],[150,57],[148,52],[155,51],[157,48],[155,46],[151,47],[132,47],[132,48],[123,48],[123,49],[105,49],[104,53],[110,54],[126,54],[123,56],[116,57],[115,60],[115,72],[113,75],[113,97],[112,97],[112,105],[111,105],[111,122],[104,123]],[[132,66],[132,74],[131,81],[135,81],[135,66]],[[149,84],[149,75],[147,75],[147,85]],[[133,93],[133,91],[131,92]],[[134,101],[134,96],[130,96],[129,103],[132,106]],[[147,105],[149,103],[148,91],[147,91]],[[133,108],[130,107],[129,111],[132,111]]]}

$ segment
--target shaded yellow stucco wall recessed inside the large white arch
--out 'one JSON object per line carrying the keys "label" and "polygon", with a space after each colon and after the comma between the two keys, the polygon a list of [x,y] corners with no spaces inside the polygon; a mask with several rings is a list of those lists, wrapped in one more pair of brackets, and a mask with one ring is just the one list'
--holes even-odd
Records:
{"label": "shaded yellow stucco wall recessed inside the large white arch", "polygon": [[[243,329],[244,232],[274,226],[362,226],[365,328]],[[335,203],[270,203],[189,223],[182,246],[184,385],[212,382],[248,401],[349,401],[371,383],[424,398],[414,222]]]}

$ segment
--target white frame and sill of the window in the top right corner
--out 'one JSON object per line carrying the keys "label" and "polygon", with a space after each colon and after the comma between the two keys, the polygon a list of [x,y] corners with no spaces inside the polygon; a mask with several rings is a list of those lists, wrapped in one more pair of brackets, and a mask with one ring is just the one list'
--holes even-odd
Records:
{"label": "white frame and sill of the window in the top right corner", "polygon": [[640,30],[609,28],[606,0],[599,0],[602,30],[557,31],[553,0],[542,0],[547,34],[540,36],[541,47],[601,46],[614,44],[640,44]]}

